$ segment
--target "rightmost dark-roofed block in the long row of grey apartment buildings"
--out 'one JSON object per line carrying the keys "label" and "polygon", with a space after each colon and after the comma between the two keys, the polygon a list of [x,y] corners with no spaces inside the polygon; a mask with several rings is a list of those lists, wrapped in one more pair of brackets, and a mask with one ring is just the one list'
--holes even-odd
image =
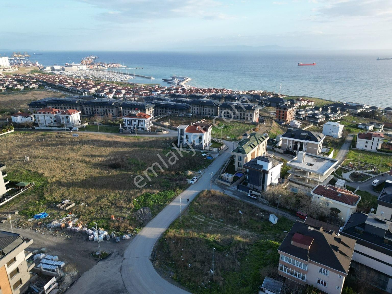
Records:
{"label": "rightmost dark-roofed block in the long row of grey apartment buildings", "polygon": [[251,103],[223,102],[219,107],[219,116],[228,120],[258,123],[260,108],[260,106]]}

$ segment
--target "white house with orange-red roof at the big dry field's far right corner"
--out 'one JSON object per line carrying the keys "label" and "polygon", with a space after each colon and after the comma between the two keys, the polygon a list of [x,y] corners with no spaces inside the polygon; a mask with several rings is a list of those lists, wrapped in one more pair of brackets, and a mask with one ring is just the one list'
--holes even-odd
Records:
{"label": "white house with orange-red roof at the big dry field's far right corner", "polygon": [[177,127],[177,146],[205,149],[211,145],[210,123],[193,123],[192,125],[179,125]]}

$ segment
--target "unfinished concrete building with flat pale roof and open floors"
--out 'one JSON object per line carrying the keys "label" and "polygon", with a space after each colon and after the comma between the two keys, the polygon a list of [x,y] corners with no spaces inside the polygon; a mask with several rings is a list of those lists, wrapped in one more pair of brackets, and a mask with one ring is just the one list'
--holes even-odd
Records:
{"label": "unfinished concrete building with flat pale roof and open floors", "polygon": [[299,151],[286,165],[291,167],[287,177],[291,191],[301,190],[312,196],[317,185],[327,185],[334,177],[332,172],[338,167],[338,160]]}

